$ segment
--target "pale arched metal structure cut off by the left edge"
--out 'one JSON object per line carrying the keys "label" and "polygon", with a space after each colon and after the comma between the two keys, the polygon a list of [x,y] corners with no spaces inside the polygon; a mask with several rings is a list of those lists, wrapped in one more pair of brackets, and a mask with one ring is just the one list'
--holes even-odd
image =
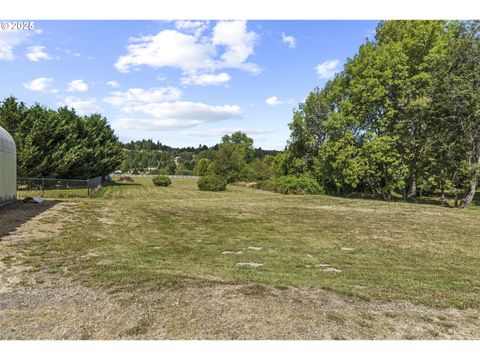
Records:
{"label": "pale arched metal structure cut off by the left edge", "polygon": [[17,199],[17,148],[0,126],[0,206]]}

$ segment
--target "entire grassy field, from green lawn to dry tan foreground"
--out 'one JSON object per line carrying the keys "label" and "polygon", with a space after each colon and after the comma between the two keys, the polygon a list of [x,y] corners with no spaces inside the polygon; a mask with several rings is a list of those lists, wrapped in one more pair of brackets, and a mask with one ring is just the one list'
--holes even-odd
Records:
{"label": "entire grassy field, from green lawn to dry tan foreground", "polygon": [[478,209],[189,180],[78,201],[8,226],[1,338],[480,337]]}

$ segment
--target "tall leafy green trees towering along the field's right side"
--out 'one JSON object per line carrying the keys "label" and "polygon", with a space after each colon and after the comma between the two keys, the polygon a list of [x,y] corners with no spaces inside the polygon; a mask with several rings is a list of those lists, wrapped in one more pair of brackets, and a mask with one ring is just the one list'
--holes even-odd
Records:
{"label": "tall leafy green trees towering along the field's right side", "polygon": [[450,193],[469,206],[480,173],[479,29],[380,22],[294,111],[284,174],[311,174],[337,195]]}

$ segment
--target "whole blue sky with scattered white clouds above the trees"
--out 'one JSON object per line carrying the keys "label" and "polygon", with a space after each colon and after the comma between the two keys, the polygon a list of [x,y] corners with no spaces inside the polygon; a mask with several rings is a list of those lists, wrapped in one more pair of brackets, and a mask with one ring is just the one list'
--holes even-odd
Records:
{"label": "whole blue sky with scattered white clouds above the trees", "polygon": [[0,31],[0,97],[100,112],[122,141],[246,132],[282,149],[292,111],[377,21],[36,21]]}

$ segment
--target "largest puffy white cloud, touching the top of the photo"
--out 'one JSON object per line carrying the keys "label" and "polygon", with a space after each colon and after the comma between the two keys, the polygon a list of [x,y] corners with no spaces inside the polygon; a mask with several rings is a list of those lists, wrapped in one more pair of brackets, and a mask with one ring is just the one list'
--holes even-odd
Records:
{"label": "largest puffy white cloud, touching the top of the photo", "polygon": [[175,24],[177,30],[162,30],[156,35],[130,39],[127,54],[117,59],[115,68],[129,72],[141,65],[176,67],[185,74],[222,68],[242,69],[253,74],[261,71],[258,65],[247,62],[258,36],[247,30],[246,21],[219,21],[210,36],[202,37],[196,31],[202,29],[203,32],[206,26],[200,22]]}

